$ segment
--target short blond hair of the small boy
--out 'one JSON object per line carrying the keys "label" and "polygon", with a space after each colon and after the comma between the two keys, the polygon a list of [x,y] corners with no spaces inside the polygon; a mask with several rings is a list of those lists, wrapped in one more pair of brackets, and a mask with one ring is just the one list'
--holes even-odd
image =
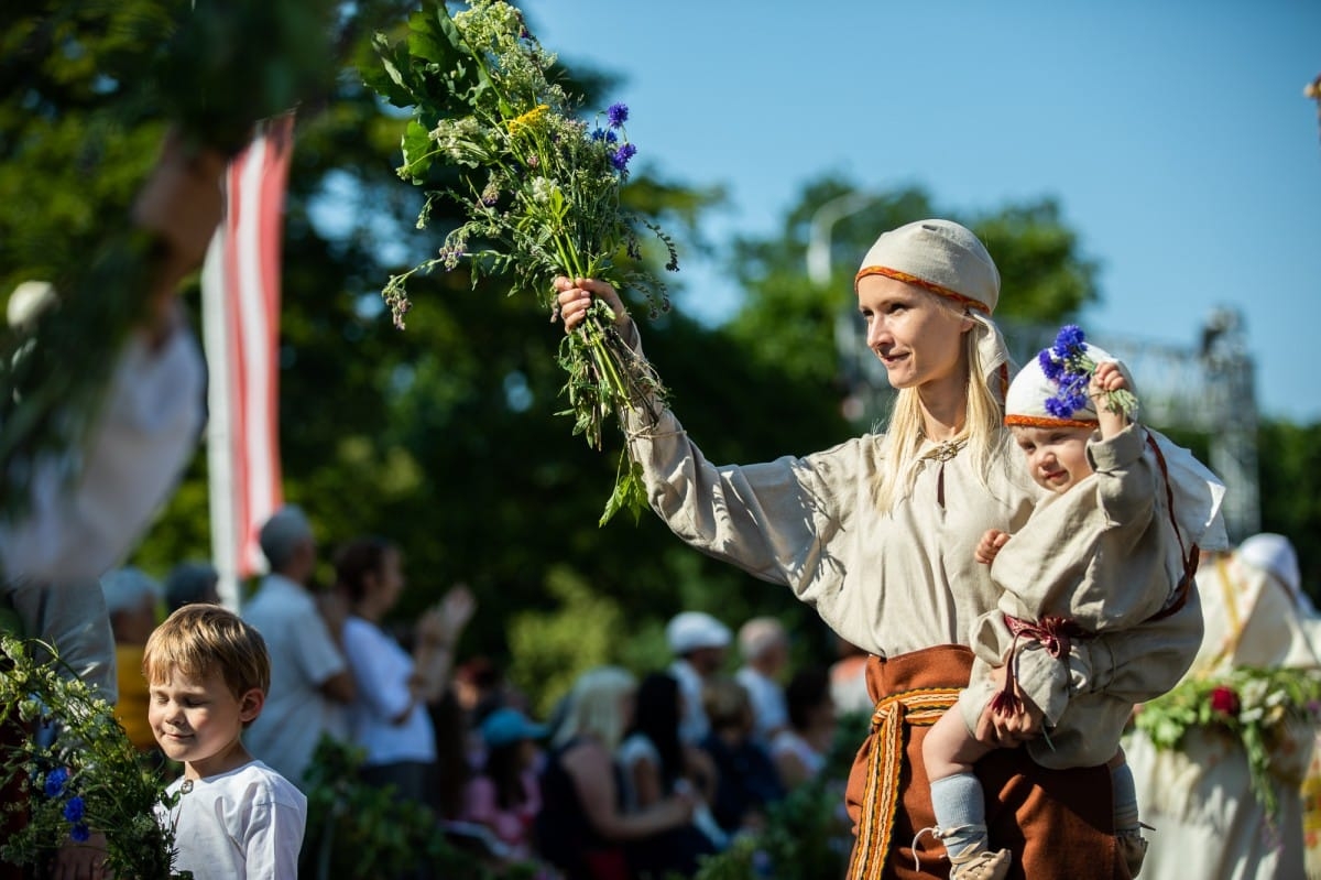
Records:
{"label": "short blond hair of the small boy", "polygon": [[162,684],[172,671],[189,678],[219,673],[235,699],[271,690],[271,655],[262,633],[221,605],[184,605],[147,640],[143,675]]}

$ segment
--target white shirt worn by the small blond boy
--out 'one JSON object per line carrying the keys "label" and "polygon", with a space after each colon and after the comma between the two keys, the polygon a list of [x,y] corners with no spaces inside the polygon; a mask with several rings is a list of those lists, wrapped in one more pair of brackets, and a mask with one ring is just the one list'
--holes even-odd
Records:
{"label": "white shirt worn by the small blond boy", "polygon": [[188,788],[178,803],[156,813],[174,826],[176,869],[192,871],[193,880],[299,876],[308,799],[292,782],[262,761],[185,782],[166,789]]}

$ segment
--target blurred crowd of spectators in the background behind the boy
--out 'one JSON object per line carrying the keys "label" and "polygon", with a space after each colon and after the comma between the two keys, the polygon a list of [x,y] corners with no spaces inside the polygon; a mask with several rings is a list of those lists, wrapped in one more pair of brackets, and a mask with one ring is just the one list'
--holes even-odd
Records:
{"label": "blurred crowd of spectators in the background behind the boy", "polygon": [[[363,785],[425,805],[437,832],[497,869],[692,876],[699,859],[758,834],[773,805],[823,774],[839,714],[869,710],[855,649],[841,643],[832,663],[794,669],[778,618],[734,630],[686,610],[666,626],[667,666],[589,669],[536,719],[491,659],[456,662],[478,610],[466,587],[399,621],[406,560],[391,542],[336,548],[333,589],[313,584],[318,543],[300,507],[271,517],[260,544],[269,572],[240,609],[272,658],[266,710],[244,732],[254,757],[306,789],[322,737],[351,745]],[[143,646],[162,609],[219,601],[217,571],[190,560],[159,583],[125,567],[100,585],[116,714],[144,758],[161,764],[145,723]],[[847,832],[843,811],[840,822]],[[423,865],[408,876],[432,875]]]}

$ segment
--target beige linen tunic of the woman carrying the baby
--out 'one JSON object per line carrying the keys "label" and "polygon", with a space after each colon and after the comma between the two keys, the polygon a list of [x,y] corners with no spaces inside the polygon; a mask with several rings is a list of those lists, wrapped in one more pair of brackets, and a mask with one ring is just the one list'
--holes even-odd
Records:
{"label": "beige linen tunic of the woman carrying the baby", "polygon": [[[641,355],[637,328],[624,330]],[[753,465],[709,462],[668,408],[625,414],[651,507],[691,547],[785,584],[840,637],[880,657],[970,645],[972,625],[1000,591],[975,559],[987,529],[1011,534],[1041,490],[1001,432],[985,480],[963,449],[922,462],[913,492],[876,503],[888,441],[868,433],[803,457]],[[926,444],[922,453],[934,451]],[[1118,630],[1075,642],[1073,692],[1108,690],[1143,702],[1168,691],[1201,641],[1196,601],[1149,633]],[[1026,659],[1026,658],[1025,658]],[[1054,658],[1024,662],[1018,684],[1038,706],[1052,694]],[[1141,661],[1141,662],[1136,662]]]}

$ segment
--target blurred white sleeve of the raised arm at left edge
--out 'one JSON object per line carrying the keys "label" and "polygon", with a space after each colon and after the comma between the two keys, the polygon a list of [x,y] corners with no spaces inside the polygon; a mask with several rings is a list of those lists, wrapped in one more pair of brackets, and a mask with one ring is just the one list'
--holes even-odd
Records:
{"label": "blurred white sleeve of the raised arm at left edge", "polygon": [[[75,581],[115,566],[192,457],[205,419],[203,387],[192,333],[174,332],[159,351],[135,334],[114,367],[81,462],[40,461],[29,509],[0,525],[5,576]],[[79,465],[71,485],[70,465]]]}

